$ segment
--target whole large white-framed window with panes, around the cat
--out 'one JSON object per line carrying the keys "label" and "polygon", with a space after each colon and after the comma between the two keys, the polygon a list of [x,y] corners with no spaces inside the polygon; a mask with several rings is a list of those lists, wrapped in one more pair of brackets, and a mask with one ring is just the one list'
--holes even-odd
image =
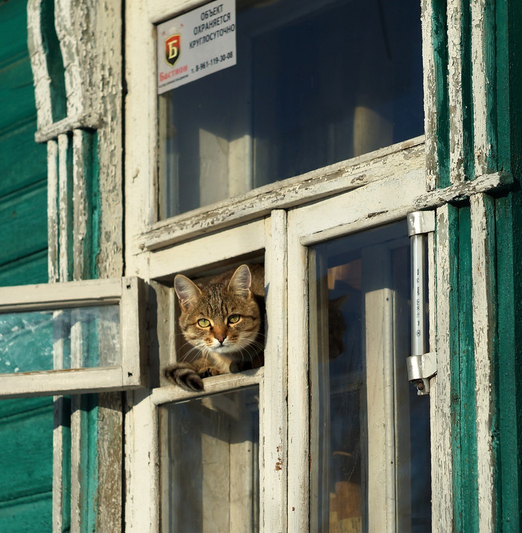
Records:
{"label": "whole large white-framed window with panes, around the cat", "polygon": [[[199,6],[149,0],[146,17],[130,8],[128,35],[149,36],[149,21]],[[140,134],[126,137],[126,266],[150,284],[157,319],[151,389],[132,392],[126,419],[126,523],[422,530],[430,406],[407,381],[405,230],[426,197],[415,138],[419,5],[236,8],[236,66],[159,99],[146,84],[157,106],[143,106],[142,83],[157,42],[143,53],[142,40],[128,39],[126,110]],[[304,39],[316,46],[299,55]],[[368,56],[352,53],[361,41]],[[205,377],[202,392],[168,383],[162,369],[182,353],[175,275],[204,278],[249,262],[265,265],[264,366]]]}

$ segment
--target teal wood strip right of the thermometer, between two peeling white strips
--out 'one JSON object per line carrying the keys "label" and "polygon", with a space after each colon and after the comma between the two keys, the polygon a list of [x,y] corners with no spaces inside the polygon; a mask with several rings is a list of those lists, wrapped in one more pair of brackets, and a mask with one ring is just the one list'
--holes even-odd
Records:
{"label": "teal wood strip right of the thermometer, between two peeling white strips", "polygon": [[477,428],[469,207],[448,210],[450,387],[455,531],[478,531]]}

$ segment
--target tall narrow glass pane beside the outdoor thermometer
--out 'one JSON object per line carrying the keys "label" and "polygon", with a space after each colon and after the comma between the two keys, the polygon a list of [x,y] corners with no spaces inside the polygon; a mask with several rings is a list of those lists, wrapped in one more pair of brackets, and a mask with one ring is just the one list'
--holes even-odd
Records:
{"label": "tall narrow glass pane beside the outdoor thermometer", "polygon": [[406,371],[406,224],[329,241],[310,260],[311,530],[391,520],[397,531],[429,531],[429,397]]}

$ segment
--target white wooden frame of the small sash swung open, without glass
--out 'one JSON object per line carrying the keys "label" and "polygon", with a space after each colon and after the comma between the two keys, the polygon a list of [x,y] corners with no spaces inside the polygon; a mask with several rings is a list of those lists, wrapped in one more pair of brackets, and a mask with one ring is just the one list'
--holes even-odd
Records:
{"label": "white wooden frame of the small sash swung open, without glass", "polygon": [[[0,374],[0,398],[116,391],[145,386],[141,316],[142,281],[137,277],[71,281],[0,288],[0,313],[118,305],[120,365]],[[74,350],[74,346],[72,346]]]}

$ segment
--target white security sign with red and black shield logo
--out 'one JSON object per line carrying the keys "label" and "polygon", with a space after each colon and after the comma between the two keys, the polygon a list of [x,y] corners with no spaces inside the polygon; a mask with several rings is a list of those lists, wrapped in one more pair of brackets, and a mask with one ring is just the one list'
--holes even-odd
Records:
{"label": "white security sign with red and black shield logo", "polygon": [[158,94],[235,65],[235,0],[216,0],[158,25]]}

